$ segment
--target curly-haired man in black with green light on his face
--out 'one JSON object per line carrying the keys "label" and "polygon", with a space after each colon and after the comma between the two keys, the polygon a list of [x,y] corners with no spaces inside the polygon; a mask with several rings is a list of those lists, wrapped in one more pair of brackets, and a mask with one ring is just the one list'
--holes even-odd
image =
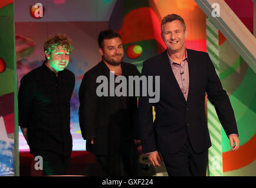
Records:
{"label": "curly-haired man in black with green light on his face", "polygon": [[42,167],[38,167],[46,175],[66,174],[70,163],[70,99],[75,76],[65,68],[72,50],[66,35],[48,38],[44,43],[46,60],[23,76],[19,87],[19,126],[30,153],[42,157]]}

